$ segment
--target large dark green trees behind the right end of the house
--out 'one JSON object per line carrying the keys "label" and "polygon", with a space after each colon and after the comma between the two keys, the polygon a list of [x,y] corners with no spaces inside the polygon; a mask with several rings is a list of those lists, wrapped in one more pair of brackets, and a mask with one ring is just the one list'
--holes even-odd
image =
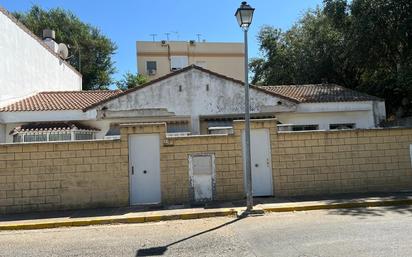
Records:
{"label": "large dark green trees behind the right end of the house", "polygon": [[265,26],[253,83],[338,83],[412,115],[412,2],[324,0],[288,31]]}

